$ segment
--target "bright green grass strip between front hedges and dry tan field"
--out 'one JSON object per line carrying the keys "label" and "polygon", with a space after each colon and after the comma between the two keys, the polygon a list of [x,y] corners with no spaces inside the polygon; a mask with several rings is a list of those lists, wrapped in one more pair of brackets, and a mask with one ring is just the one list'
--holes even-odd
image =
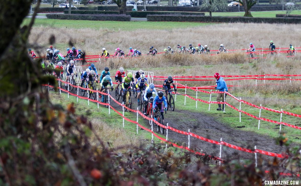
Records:
{"label": "bright green grass strip between front hedges and dry tan field", "polygon": [[[23,25],[28,25],[29,18],[25,18]],[[36,19],[34,26],[41,27],[60,27],[60,28],[89,28],[94,30],[109,29],[111,32],[118,32],[119,30],[135,31],[137,29],[152,30],[170,30],[179,28],[193,28],[205,26],[214,23],[195,23],[195,22],[152,22],[152,21],[87,21],[87,20],[57,20],[57,19]]]}

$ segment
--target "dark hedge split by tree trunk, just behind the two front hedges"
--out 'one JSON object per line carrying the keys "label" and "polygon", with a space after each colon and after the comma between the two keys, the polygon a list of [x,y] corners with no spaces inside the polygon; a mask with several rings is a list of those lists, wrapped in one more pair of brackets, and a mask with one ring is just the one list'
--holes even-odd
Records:
{"label": "dark hedge split by tree trunk, just behind the two front hedges", "polygon": [[[65,10],[65,14],[68,14],[69,11]],[[71,14],[119,14],[119,11],[98,11],[98,10],[77,10],[71,11]],[[147,15],[167,15],[167,14],[178,14],[178,15],[200,15],[204,16],[203,12],[163,12],[163,11],[127,11],[126,15],[130,15],[131,17],[146,17]]]}

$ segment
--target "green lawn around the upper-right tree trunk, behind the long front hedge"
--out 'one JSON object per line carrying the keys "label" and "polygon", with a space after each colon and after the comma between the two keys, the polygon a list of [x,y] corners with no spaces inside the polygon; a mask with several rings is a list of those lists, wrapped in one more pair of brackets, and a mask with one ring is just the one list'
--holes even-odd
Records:
{"label": "green lawn around the upper-right tree trunk, behind the long front hedge", "polygon": [[[253,17],[276,17],[276,14],[286,14],[286,11],[252,11]],[[292,11],[291,14],[301,15],[301,11]],[[205,16],[209,16],[209,12],[205,12]],[[212,12],[212,16],[244,16],[244,9],[240,12]]]}

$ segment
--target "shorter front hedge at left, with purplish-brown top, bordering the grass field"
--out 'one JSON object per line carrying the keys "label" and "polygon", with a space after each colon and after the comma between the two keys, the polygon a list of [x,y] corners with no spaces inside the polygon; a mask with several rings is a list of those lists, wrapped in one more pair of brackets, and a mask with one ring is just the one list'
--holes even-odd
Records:
{"label": "shorter front hedge at left, with purplish-brown top, bordering the grass field", "polygon": [[94,21],[130,21],[131,16],[121,14],[46,14],[48,19],[65,19],[65,20],[94,20]]}

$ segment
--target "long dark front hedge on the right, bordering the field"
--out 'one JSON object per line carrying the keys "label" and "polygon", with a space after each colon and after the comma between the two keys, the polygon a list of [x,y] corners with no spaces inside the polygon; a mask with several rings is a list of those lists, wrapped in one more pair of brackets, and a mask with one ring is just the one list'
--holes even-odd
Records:
{"label": "long dark front hedge on the right, bordering the field", "polygon": [[298,18],[263,18],[263,17],[219,17],[219,16],[178,16],[147,15],[148,21],[188,21],[188,22],[225,22],[225,23],[294,23],[300,24]]}

